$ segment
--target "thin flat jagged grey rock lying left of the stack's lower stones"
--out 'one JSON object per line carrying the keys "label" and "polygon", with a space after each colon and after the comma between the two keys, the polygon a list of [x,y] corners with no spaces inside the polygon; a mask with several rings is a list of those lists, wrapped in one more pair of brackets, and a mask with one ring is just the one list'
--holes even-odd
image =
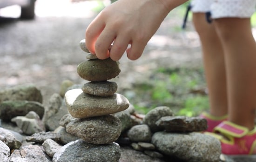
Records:
{"label": "thin flat jagged grey rock lying left of the stack's lower stones", "polygon": [[32,136],[27,136],[27,142],[43,143],[46,139],[60,141],[60,135],[51,131],[35,133]]}

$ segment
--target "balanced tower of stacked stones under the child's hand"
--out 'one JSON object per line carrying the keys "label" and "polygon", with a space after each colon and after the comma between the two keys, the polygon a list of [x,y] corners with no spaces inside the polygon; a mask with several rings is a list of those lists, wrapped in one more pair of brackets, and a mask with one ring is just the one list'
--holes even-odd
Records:
{"label": "balanced tower of stacked stones under the child's hand", "polygon": [[[89,52],[85,40],[80,42],[80,47]],[[121,149],[114,142],[121,134],[121,121],[111,114],[127,109],[129,101],[115,93],[117,84],[108,80],[120,73],[120,65],[110,58],[100,60],[92,54],[86,58],[87,61],[78,65],[77,73],[89,82],[81,89],[72,89],[65,94],[67,109],[76,118],[67,124],[66,131],[81,138],[80,144],[95,154],[95,162],[118,162]],[[98,155],[96,150],[102,150],[102,147],[110,150],[106,149],[106,153]]]}

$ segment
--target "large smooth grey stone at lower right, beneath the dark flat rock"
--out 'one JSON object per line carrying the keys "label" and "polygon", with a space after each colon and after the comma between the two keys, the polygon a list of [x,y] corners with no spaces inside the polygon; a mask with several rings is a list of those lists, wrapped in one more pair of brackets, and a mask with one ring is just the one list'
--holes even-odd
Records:
{"label": "large smooth grey stone at lower right, beneath the dark flat rock", "polygon": [[219,162],[221,143],[202,133],[156,132],[152,141],[163,154],[185,162]]}

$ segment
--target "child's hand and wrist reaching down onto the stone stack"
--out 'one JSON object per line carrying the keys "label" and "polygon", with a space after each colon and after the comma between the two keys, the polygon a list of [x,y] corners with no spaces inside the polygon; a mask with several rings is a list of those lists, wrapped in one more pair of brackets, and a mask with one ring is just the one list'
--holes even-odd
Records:
{"label": "child's hand and wrist reaching down onto the stone stack", "polygon": [[138,59],[168,12],[186,1],[118,0],[104,8],[88,26],[86,46],[100,59],[110,56],[119,60],[125,51],[129,59]]}

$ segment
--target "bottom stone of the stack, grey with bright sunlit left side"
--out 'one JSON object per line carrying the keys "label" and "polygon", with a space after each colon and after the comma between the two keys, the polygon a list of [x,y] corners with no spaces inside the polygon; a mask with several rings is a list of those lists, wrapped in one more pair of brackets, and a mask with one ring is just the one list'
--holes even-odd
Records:
{"label": "bottom stone of the stack, grey with bright sunlit left side", "polygon": [[54,154],[53,162],[119,162],[120,146],[89,144],[83,140],[67,143]]}

